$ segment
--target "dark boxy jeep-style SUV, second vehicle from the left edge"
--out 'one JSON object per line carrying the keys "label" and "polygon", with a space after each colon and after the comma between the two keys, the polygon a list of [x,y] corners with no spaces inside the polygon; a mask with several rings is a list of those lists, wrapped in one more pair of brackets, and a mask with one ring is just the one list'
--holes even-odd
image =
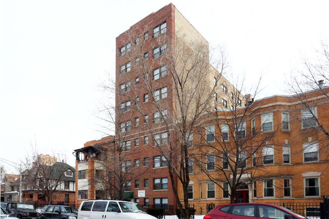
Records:
{"label": "dark boxy jeep-style SUV, second vehicle from the left edge", "polygon": [[36,219],[39,213],[35,211],[33,204],[24,202],[8,202],[6,211],[10,215],[16,216],[20,219]]}

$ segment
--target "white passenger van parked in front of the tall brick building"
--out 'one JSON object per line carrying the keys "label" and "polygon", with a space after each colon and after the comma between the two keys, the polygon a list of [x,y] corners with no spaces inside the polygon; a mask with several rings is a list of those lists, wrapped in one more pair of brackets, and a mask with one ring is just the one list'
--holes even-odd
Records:
{"label": "white passenger van parked in front of the tall brick building", "polygon": [[77,219],[156,219],[137,203],[115,200],[88,200],[80,204]]}

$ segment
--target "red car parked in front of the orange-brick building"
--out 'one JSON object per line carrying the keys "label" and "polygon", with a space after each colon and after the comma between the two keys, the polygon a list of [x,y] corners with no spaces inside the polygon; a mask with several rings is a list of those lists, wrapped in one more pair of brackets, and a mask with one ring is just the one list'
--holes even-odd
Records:
{"label": "red car parked in front of the orange-brick building", "polygon": [[240,203],[215,207],[203,219],[305,219],[285,207],[274,204]]}

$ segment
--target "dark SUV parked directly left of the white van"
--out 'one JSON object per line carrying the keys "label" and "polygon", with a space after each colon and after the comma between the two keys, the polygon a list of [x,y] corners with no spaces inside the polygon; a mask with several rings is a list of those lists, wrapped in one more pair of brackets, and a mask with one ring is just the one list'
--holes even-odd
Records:
{"label": "dark SUV parked directly left of the white van", "polygon": [[77,209],[63,205],[46,205],[40,212],[40,219],[59,218],[76,219]]}

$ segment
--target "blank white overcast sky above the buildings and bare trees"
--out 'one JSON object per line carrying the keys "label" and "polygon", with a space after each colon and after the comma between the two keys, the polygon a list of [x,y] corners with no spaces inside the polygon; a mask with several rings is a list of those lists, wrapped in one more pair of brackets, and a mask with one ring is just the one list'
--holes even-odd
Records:
{"label": "blank white overcast sky above the buildings and bare trees", "polygon": [[[96,119],[100,79],[114,76],[115,37],[170,1],[0,1],[0,157],[72,152],[104,137]],[[247,84],[263,74],[260,97],[329,38],[329,1],[175,1],[211,45],[224,45]],[[255,81],[254,81],[255,83]],[[5,163],[3,163],[5,164]],[[8,172],[13,171],[5,164]]]}

